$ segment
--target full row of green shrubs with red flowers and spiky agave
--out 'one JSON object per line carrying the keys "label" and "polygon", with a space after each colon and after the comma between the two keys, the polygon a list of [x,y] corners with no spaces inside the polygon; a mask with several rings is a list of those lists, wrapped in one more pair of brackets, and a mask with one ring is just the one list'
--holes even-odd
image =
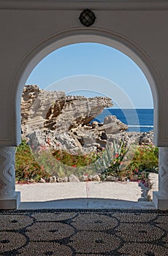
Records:
{"label": "full row of green shrubs with red flowers and spiky agave", "polygon": [[[123,141],[113,147],[108,145],[91,154],[70,154],[61,149],[53,152],[42,147],[37,154],[32,154],[31,148],[23,140],[16,151],[16,181],[39,181],[50,176],[78,176],[88,173],[101,173],[102,179],[115,176],[119,180],[146,180],[149,172],[158,171],[159,149],[153,144],[127,148]],[[34,157],[35,156],[35,157]]]}

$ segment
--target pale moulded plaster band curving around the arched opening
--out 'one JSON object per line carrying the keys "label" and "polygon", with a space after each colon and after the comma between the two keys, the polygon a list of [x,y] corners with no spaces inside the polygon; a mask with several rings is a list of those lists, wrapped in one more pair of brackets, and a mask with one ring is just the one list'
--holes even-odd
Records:
{"label": "pale moulded plaster band curving around the arched opening", "polygon": [[102,29],[72,29],[69,31],[62,31],[59,34],[53,35],[53,37],[46,38],[43,42],[39,42],[39,44],[25,56],[20,63],[20,67],[18,67],[18,71],[16,72],[9,92],[9,102],[12,102],[12,106],[14,107],[11,108],[10,111],[10,120],[15,124],[15,129],[12,130],[11,134],[11,146],[18,146],[20,144],[20,99],[23,87],[28,76],[31,74],[31,71],[37,66],[39,61],[44,59],[45,56],[52,53],[54,50],[80,42],[96,42],[116,48],[126,54],[126,56],[129,56],[129,58],[140,67],[148,80],[153,94],[154,143],[156,146],[160,146],[163,141],[163,127],[159,126],[159,111],[161,111],[159,102],[162,102],[163,105],[165,102],[165,94],[159,72],[156,67],[153,66],[149,56],[138,45],[135,45],[134,42],[131,42],[126,37]]}

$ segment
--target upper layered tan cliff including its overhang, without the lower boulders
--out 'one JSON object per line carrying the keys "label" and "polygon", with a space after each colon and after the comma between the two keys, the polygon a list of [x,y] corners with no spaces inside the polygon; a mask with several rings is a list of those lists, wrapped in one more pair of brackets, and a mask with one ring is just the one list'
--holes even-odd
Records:
{"label": "upper layered tan cliff including its overhang, without the lower boulders", "polygon": [[21,101],[22,128],[68,132],[90,123],[104,108],[112,107],[108,97],[66,96],[64,91],[45,91],[25,86]]}

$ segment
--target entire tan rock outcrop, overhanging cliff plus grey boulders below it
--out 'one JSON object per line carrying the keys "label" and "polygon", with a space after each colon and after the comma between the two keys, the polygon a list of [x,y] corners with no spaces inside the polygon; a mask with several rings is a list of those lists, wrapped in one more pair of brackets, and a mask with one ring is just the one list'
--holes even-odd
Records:
{"label": "entire tan rock outcrop, overhanging cliff plus grey boulders below it", "polygon": [[93,151],[106,146],[108,138],[128,127],[115,116],[104,123],[91,121],[104,108],[112,107],[108,97],[66,96],[64,91],[45,91],[25,86],[21,101],[23,137],[35,149],[39,146],[72,152]]}

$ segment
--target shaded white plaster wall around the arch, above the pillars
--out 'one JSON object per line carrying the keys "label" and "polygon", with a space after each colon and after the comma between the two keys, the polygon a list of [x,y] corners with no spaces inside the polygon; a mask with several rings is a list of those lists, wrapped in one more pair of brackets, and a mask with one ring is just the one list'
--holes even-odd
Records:
{"label": "shaded white plaster wall around the arch, above the pillars", "polygon": [[[161,8],[163,1],[154,7],[152,1],[144,6],[128,1],[125,10],[116,1],[56,1],[55,7],[51,0],[32,2],[0,4],[0,146],[20,143],[20,97],[31,70],[50,51],[72,42],[103,42],[139,64],[153,92],[155,142],[168,146],[168,7]],[[96,15],[89,28],[78,19],[84,8]]]}

